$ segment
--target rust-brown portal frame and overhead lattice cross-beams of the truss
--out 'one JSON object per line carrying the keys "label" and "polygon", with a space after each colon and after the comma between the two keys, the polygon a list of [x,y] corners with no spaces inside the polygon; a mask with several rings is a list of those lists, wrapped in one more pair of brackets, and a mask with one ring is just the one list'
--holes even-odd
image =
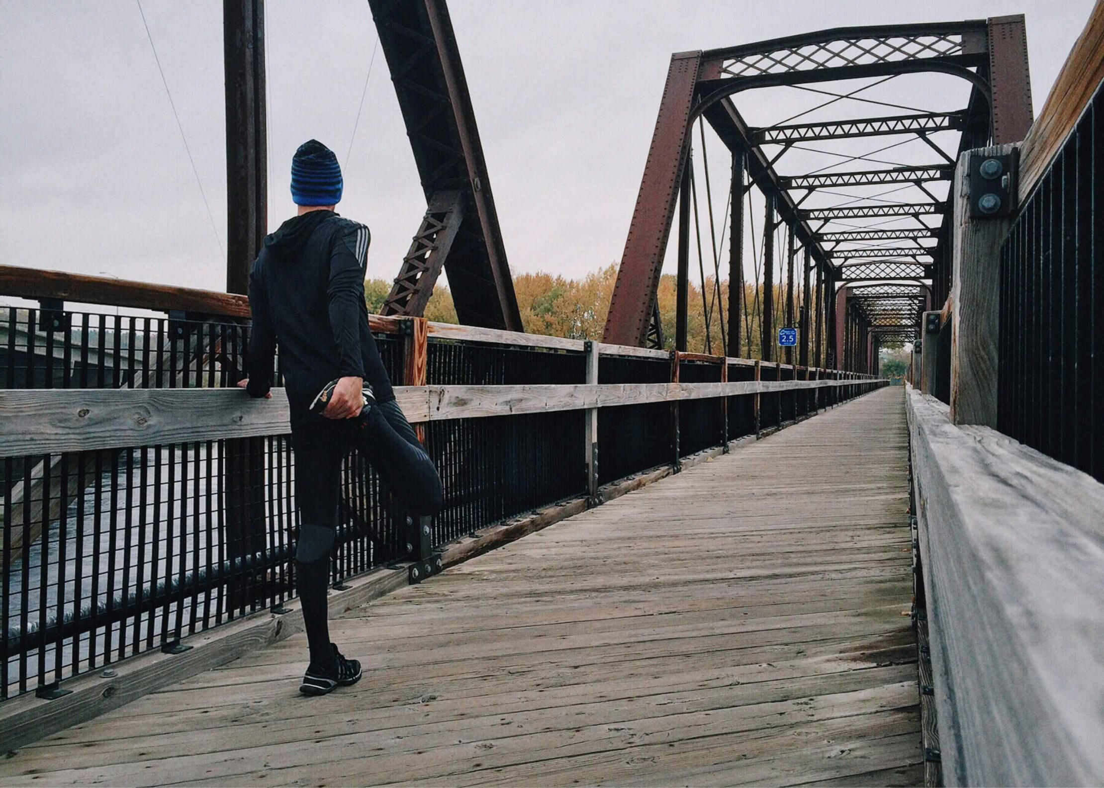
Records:
{"label": "rust-brown portal frame and overhead lattice cross-beams of the truss", "polygon": [[[1006,24],[1011,28],[1001,26]],[[995,137],[996,126],[990,123],[992,115],[1000,115],[1009,102],[1023,99],[1025,94],[1020,88],[1027,72],[1022,53],[1019,60],[1023,61],[1023,68],[1019,72],[1015,68],[1006,70],[1002,77],[990,78],[994,64],[1007,60],[997,50],[1009,46],[1016,50],[1022,43],[1022,36],[1017,38],[1015,34],[1016,25],[1022,30],[1022,17],[947,24],[837,29],[722,50],[675,54],[622,257],[606,322],[606,341],[624,344],[641,344],[645,341],[659,269],[673,221],[678,184],[688,159],[688,132],[699,117],[710,123],[734,156],[746,157],[746,172],[754,185],[776,205],[779,221],[793,226],[796,238],[809,249],[816,267],[821,269],[827,286],[835,287],[842,281],[909,281],[928,278],[935,268],[944,265],[941,260],[945,255],[941,253],[946,246],[945,227],[923,226],[915,231],[856,227],[847,233],[824,233],[820,232],[821,226],[814,233],[808,222],[945,216],[947,203],[933,200],[917,204],[798,210],[797,203],[786,190],[875,183],[922,184],[931,180],[946,180],[949,168],[945,167],[945,162],[896,172],[794,175],[784,179],[775,172],[772,159],[761,146],[786,146],[804,139],[842,139],[888,134],[926,136],[952,129],[963,132],[960,146],[976,147],[984,143]],[[1009,44],[1009,41],[1012,43]],[[968,79],[974,85],[969,106],[955,113],[751,129],[730,98],[741,90],[757,87],[921,72],[946,73]],[[997,113],[990,111],[990,102]],[[1022,116],[1025,110],[1020,107],[1017,111]],[[1030,117],[1029,100],[1026,113]],[[1007,128],[1002,127],[1000,134],[1006,132]],[[830,265],[829,257],[820,245],[828,241],[923,237],[934,237],[938,244],[933,249],[910,249],[909,254],[913,257],[931,254],[935,257],[935,265],[871,260],[863,266],[848,266],[845,269]],[[848,255],[841,254],[839,257],[846,258]],[[830,315],[828,319],[832,319]]]}

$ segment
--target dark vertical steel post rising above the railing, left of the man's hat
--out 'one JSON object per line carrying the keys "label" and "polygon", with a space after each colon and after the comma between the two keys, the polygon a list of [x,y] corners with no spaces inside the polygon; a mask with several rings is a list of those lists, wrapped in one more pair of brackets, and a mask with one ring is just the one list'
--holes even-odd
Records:
{"label": "dark vertical steel post rising above the railing, left of the man's hat", "polygon": [[265,0],[223,0],[226,72],[226,291],[247,292],[268,233]]}

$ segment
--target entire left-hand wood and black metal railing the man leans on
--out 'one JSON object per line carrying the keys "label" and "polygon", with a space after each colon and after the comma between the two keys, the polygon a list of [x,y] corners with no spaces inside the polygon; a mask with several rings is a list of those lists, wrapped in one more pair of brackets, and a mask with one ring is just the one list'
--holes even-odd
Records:
{"label": "entire left-hand wood and black metal railing the man leans on", "polygon": [[[0,326],[0,692],[55,694],[67,677],[279,608],[294,589],[295,462],[283,388],[254,401],[233,386],[247,302],[2,267],[0,292],[42,301]],[[601,503],[618,479],[882,384],[421,319],[372,329],[445,483],[434,545],[556,501]],[[365,470],[355,456],[344,469],[338,585],[412,550]]]}

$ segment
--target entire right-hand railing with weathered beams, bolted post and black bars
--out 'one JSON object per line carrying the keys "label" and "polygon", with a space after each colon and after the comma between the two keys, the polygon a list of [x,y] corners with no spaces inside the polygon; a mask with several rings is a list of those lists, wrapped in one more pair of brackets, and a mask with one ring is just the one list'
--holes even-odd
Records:
{"label": "entire right-hand railing with weathered beams, bolted post and black bars", "polygon": [[[1104,782],[1102,88],[1098,1],[1027,139],[959,157],[951,298],[913,358],[924,736],[947,785]],[[1010,183],[980,180],[990,159]],[[1000,190],[1007,210],[976,210]]]}

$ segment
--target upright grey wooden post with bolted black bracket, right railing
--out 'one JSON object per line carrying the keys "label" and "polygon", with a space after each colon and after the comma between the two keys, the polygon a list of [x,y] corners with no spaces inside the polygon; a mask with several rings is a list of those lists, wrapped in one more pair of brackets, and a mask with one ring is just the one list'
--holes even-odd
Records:
{"label": "upright grey wooden post with bolted black bracket, right railing", "polygon": [[[955,424],[997,426],[997,340],[1000,315],[1000,246],[1012,216],[970,219],[970,161],[1011,156],[1017,146],[979,148],[958,157],[953,187],[954,233],[951,301],[951,419]],[[924,355],[935,344],[926,336]],[[925,361],[925,380],[927,363]],[[925,383],[924,393],[931,393]]]}

